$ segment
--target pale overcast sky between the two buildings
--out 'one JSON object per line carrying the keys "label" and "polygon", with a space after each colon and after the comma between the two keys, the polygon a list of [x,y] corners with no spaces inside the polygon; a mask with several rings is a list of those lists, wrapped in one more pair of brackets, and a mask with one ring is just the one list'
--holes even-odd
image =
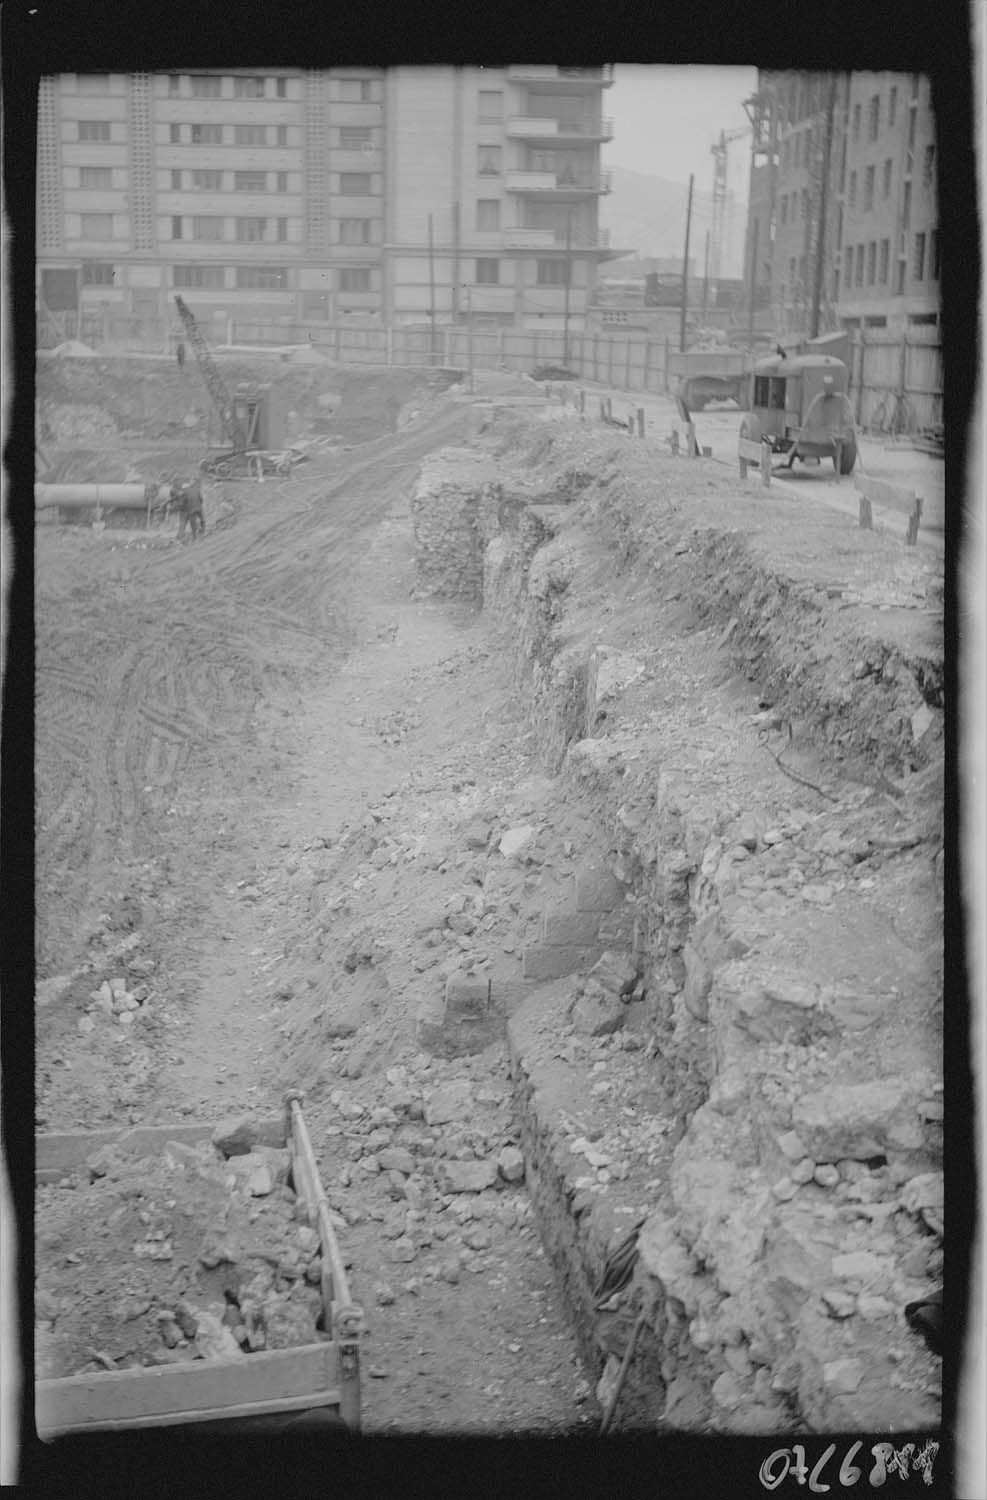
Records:
{"label": "pale overcast sky between the two buildings", "polygon": [[[758,84],[756,68],[657,68],[618,63],[603,108],[614,117],[614,140],[604,147],[608,166],[654,172],[712,192],[710,147],[720,130],[747,124],[742,100]],[[728,188],[747,200],[750,140],[728,156]]]}

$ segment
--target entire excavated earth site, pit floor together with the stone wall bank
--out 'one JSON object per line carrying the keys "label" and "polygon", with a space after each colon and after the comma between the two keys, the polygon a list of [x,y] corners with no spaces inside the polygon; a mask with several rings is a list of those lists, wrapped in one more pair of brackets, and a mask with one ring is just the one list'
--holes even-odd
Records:
{"label": "entire excavated earth site, pit floor together with the stone wall bank", "polygon": [[39,532],[40,1128],[304,1089],[372,1431],[933,1426],[939,580],[422,406],[195,549]]}

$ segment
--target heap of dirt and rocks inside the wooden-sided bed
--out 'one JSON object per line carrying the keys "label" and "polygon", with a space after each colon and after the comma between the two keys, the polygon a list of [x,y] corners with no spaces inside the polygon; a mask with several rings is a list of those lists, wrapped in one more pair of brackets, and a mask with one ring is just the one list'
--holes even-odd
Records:
{"label": "heap of dirt and rocks inside the wooden-sided bed", "polygon": [[102,1148],[36,1197],[40,1378],[316,1342],[318,1236],[288,1154]]}

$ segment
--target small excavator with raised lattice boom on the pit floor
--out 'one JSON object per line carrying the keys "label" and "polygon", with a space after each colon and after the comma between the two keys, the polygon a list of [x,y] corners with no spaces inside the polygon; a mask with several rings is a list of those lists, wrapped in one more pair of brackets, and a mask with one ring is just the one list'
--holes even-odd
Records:
{"label": "small excavator with raised lattice boom on the pit floor", "polygon": [[[231,396],[190,308],[177,292],[174,297],[222,430],[232,441],[231,452],[202,459],[200,470],[210,478],[264,478],[266,474],[286,477],[306,454],[297,448],[270,446],[270,438],[279,435],[274,388],[243,384]],[[268,441],[264,442],[264,438]]]}

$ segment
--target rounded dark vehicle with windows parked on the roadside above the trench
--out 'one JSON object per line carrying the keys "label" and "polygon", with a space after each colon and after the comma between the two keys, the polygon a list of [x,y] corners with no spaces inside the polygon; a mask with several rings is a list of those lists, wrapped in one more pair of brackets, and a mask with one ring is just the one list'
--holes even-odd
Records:
{"label": "rounded dark vehicle with windows parked on the roadside above the trench", "polygon": [[831,458],[838,474],[856,464],[856,434],[848,399],[849,370],[830,354],[771,354],[750,375],[750,410],[740,429],[741,476],[760,462],[762,446],[795,460]]}

